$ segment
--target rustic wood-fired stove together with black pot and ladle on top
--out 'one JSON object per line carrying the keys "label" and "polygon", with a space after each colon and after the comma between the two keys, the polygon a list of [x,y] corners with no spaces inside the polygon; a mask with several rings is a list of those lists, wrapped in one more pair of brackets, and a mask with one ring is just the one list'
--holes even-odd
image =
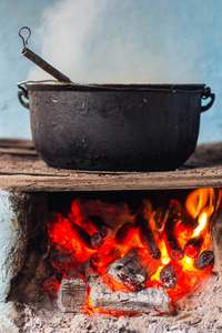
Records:
{"label": "rustic wood-fired stove together with black pot and ladle on top", "polygon": [[0,144],[2,330],[222,327],[221,145],[191,157],[210,88],[77,84],[22,29],[59,81],[18,84],[34,147]]}

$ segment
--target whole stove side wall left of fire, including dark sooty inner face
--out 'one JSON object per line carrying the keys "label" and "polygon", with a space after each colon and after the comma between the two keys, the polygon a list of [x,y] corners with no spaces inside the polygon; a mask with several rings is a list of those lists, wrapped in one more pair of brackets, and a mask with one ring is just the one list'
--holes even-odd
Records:
{"label": "whole stove side wall left of fire, including dark sooty inner face", "polygon": [[1,333],[20,332],[16,324],[22,323],[23,315],[18,309],[16,311],[13,301],[22,304],[23,300],[27,303],[30,297],[33,300],[39,295],[33,278],[48,252],[47,221],[44,194],[12,193],[0,189]]}

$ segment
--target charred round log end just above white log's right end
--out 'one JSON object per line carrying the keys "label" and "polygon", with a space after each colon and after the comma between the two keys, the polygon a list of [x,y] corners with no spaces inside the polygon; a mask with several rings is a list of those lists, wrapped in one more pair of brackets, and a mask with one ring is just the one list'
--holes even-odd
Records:
{"label": "charred round log end just above white log's right end", "polygon": [[176,262],[170,262],[165,265],[160,272],[160,282],[162,283],[162,286],[165,289],[173,289],[178,283],[181,272],[182,268]]}

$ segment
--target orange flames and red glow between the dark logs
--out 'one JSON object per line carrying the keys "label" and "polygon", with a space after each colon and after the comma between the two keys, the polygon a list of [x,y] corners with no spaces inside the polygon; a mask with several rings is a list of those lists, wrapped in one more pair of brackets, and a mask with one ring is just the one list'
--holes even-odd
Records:
{"label": "orange flames and red glow between the dark logs", "polygon": [[[69,279],[69,276],[73,274],[73,270],[74,273],[82,271],[82,268],[87,262],[89,266],[90,261],[90,270],[93,270],[93,273],[95,274],[102,275],[104,283],[108,284],[113,292],[117,290],[129,292],[124,284],[115,281],[111,276],[108,276],[107,269],[117,259],[123,258],[127,253],[129,253],[132,248],[138,248],[138,255],[140,256],[141,262],[147,265],[148,270],[150,266],[154,268],[152,275],[149,276],[145,287],[162,285],[160,274],[167,265],[172,263],[168,252],[165,238],[163,236],[167,211],[162,211],[160,213],[160,208],[157,209],[158,216],[162,216],[163,219],[157,223],[154,220],[157,211],[153,210],[152,204],[149,201],[144,201],[144,204],[148,224],[152,230],[154,241],[161,252],[160,260],[154,260],[148,249],[144,248],[144,243],[142,243],[140,239],[138,225],[135,225],[135,214],[130,212],[127,204],[119,204],[114,206],[113,204],[109,205],[107,203],[104,204],[99,201],[91,200],[88,205],[87,201],[82,203],[81,200],[78,199],[72,203],[71,213],[68,212],[65,218],[59,213],[52,214],[48,223],[51,248],[50,260],[52,261],[52,265],[56,268],[57,272],[65,274],[65,279]],[[204,250],[210,250],[210,222],[215,208],[216,198],[213,189],[194,190],[188,195],[183,208],[186,212],[186,218],[183,218],[182,211],[180,219],[178,221],[173,221],[173,233],[182,251],[190,240],[200,235],[203,236],[200,254]],[[104,239],[104,242],[101,244],[99,250],[90,248],[88,246],[88,243],[83,243],[82,235],[78,235],[77,231],[73,231],[72,228],[72,223],[74,222],[80,226],[80,233],[82,230],[84,234],[88,234],[89,239],[94,232],[99,232],[95,226],[91,229],[91,226],[88,225],[90,213],[102,216],[104,219],[104,223],[114,230],[115,235],[124,223],[128,223],[128,225],[129,223],[132,223],[134,234],[121,234],[121,239],[123,239],[123,241],[124,236],[128,240],[125,243],[120,243],[115,238],[112,238]],[[110,214],[113,216],[112,219],[110,218]],[[128,228],[125,230],[128,230]],[[178,283],[176,286],[168,290],[172,301],[176,301],[176,299],[182,295],[188,295],[192,292],[199,281],[202,281],[202,279],[205,279],[208,274],[211,273],[211,266],[205,270],[198,270],[194,262],[195,260],[186,254],[184,254],[182,260],[176,262],[176,265],[181,268],[179,270]],[[83,276],[83,279],[85,279],[85,276]],[[48,285],[49,283],[44,283],[46,291]],[[102,311],[101,309],[92,309],[90,290],[88,293],[88,305],[84,307],[84,311],[87,313],[103,312],[113,314],[113,312]]]}

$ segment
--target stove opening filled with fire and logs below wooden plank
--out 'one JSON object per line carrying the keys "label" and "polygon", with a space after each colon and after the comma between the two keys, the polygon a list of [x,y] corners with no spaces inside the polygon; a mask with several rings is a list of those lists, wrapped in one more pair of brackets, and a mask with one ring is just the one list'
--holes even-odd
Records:
{"label": "stove opening filled with fire and logs below wooden plank", "polygon": [[213,274],[221,191],[50,194],[44,293],[62,311],[178,312]]}

